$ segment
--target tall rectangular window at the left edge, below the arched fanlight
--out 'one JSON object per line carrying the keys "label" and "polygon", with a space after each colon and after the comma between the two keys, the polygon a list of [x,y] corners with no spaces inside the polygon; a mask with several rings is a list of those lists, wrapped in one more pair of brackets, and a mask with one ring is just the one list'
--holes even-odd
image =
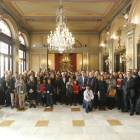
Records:
{"label": "tall rectangular window at the left edge, below the arched fanlight", "polygon": [[0,77],[4,76],[4,71],[12,69],[12,46],[0,41]]}

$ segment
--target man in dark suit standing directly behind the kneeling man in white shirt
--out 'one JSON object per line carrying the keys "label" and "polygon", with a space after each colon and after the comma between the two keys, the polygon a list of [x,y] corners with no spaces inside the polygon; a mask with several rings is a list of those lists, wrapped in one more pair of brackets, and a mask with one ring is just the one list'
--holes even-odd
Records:
{"label": "man in dark suit standing directly behind the kneeling man in white shirt", "polygon": [[94,94],[94,109],[97,109],[98,105],[98,95],[97,95],[97,87],[98,87],[98,79],[94,77],[92,72],[89,73],[89,78],[87,80],[87,85],[90,85],[90,89]]}

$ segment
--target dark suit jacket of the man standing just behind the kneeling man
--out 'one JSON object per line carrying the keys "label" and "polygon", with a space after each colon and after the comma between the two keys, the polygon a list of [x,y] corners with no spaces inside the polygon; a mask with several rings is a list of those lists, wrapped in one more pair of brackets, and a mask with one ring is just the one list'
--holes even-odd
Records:
{"label": "dark suit jacket of the man standing just behind the kneeling man", "polygon": [[[98,79],[96,77],[93,77],[93,78],[94,78],[93,83],[92,83],[93,86],[90,85],[90,89],[93,91],[93,93],[97,93]],[[90,79],[90,77],[88,77],[88,79],[87,79],[87,85],[89,85],[89,83],[88,83],[89,79]]]}

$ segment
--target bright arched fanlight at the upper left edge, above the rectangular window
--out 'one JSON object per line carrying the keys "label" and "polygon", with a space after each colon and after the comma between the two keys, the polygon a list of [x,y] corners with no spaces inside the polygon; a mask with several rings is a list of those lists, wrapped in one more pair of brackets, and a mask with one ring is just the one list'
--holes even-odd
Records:
{"label": "bright arched fanlight at the upper left edge, above the rectangular window", "polygon": [[0,21],[0,28],[2,29],[2,33],[6,34],[7,36],[11,37],[11,31],[8,27],[7,23],[3,20]]}

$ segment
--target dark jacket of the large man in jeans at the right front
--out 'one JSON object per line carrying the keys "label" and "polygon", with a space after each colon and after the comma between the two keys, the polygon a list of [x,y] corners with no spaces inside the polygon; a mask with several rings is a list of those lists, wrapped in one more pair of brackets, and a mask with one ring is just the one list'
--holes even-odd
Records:
{"label": "dark jacket of the large man in jeans at the right front", "polygon": [[125,95],[129,95],[131,89],[135,90],[135,85],[136,85],[135,79],[133,77],[131,77],[129,81],[127,80],[128,80],[127,77],[122,80],[122,89]]}

